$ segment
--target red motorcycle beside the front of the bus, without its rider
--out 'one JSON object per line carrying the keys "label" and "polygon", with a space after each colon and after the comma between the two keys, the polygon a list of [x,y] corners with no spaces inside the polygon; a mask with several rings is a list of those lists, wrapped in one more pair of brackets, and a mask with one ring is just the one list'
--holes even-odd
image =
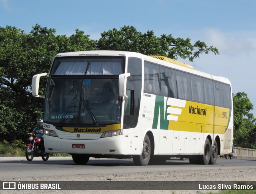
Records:
{"label": "red motorcycle beside the front of the bus, without its rider", "polygon": [[34,157],[42,157],[43,161],[47,161],[50,157],[49,153],[43,154],[42,139],[36,137],[36,134],[28,134],[28,145],[26,147],[26,159],[32,161]]}

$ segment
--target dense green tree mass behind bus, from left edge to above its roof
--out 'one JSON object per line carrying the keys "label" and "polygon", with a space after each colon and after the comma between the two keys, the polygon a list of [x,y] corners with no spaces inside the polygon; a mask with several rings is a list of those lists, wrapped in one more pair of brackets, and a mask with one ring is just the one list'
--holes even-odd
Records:
{"label": "dense green tree mass behind bus, from left edge to above its roof", "polygon": [[[202,53],[218,54],[216,48],[201,41],[192,44],[189,38],[156,37],[153,31],[141,33],[133,26],[104,31],[99,40],[90,39],[79,29],[67,37],[38,24],[28,34],[16,27],[0,27],[0,141],[21,139],[25,129],[43,117],[44,100],[32,97],[32,77],[49,72],[57,53],[82,50],[134,51],[190,61]],[[46,79],[40,95],[45,86]]]}

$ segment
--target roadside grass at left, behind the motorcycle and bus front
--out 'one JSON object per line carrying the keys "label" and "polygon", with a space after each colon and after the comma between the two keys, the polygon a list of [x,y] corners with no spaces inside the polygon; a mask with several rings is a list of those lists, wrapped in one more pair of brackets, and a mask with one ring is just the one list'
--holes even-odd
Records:
{"label": "roadside grass at left, behind the motorcycle and bus front", "polygon": [[[14,140],[12,143],[7,142],[4,140],[3,142],[0,142],[0,156],[19,156],[19,157],[25,157],[25,151],[26,151],[26,143],[24,143],[22,140]],[[66,157],[71,156],[70,154],[62,154],[62,153],[53,153],[50,154],[52,157]]]}

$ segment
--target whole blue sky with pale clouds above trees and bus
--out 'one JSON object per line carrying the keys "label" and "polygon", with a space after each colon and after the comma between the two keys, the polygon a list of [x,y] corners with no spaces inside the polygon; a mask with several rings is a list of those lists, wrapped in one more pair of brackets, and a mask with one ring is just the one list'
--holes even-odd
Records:
{"label": "whole blue sky with pale clouds above trees and bus", "polygon": [[103,31],[133,25],[142,33],[204,41],[220,55],[204,54],[193,63],[179,60],[229,78],[234,94],[248,94],[256,117],[255,10],[255,0],[0,0],[0,27],[29,33],[39,24],[60,35],[80,29],[99,39]]}

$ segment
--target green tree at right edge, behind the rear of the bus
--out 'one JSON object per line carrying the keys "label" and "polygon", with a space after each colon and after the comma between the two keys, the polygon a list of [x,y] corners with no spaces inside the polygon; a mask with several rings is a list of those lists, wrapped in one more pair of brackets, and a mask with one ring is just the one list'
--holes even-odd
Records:
{"label": "green tree at right edge, behind the rear of the bus", "polygon": [[245,92],[233,95],[234,104],[234,145],[237,147],[256,148],[255,118],[251,110],[253,104]]}

